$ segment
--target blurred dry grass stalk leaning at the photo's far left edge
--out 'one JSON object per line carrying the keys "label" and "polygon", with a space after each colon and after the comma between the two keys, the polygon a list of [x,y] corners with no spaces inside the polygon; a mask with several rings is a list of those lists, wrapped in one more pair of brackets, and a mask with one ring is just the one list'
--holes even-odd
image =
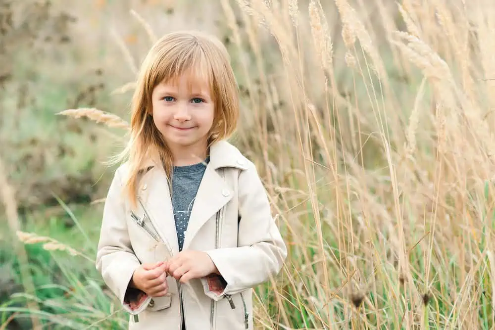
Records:
{"label": "blurred dry grass stalk leaning at the photo's far left edge", "polygon": [[[5,173],[3,161],[0,159],[0,197],[5,207],[8,226],[12,233],[15,233],[20,229],[19,214],[17,213],[14,189],[8,183]],[[29,260],[26,250],[24,246],[18,243],[14,243],[14,249],[19,258],[19,268],[24,289],[27,293],[36,295],[36,289],[29,272]],[[28,301],[27,305],[33,311],[39,310],[39,306],[35,301]],[[40,322],[35,314],[31,314],[31,322],[33,329],[41,329]]]}

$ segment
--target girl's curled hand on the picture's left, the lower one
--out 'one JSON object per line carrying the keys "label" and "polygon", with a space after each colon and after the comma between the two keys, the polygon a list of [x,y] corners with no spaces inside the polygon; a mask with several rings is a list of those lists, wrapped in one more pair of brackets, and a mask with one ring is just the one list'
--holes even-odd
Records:
{"label": "girl's curled hand on the picture's left, the lower one", "polygon": [[166,268],[164,262],[143,264],[134,272],[131,284],[151,297],[163,297],[168,293]]}

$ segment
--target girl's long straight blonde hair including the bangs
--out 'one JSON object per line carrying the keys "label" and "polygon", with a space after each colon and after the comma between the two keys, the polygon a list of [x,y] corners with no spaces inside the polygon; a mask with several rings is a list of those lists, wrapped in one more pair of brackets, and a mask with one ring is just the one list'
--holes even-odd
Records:
{"label": "girl's long straight blonde hair including the bangs", "polygon": [[239,117],[239,94],[230,56],[214,36],[198,31],[169,33],[149,50],[138,75],[132,98],[130,141],[119,155],[128,161],[125,193],[136,205],[140,169],[152,158],[170,178],[173,158],[161,133],[153,123],[151,94],[161,82],[177,81],[188,75],[191,81],[208,84],[215,105],[208,146],[229,138]]}

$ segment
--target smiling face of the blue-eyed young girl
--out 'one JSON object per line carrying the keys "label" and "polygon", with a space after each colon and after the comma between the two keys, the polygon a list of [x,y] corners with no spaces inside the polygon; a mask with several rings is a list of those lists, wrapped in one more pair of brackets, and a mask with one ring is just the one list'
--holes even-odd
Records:
{"label": "smiling face of the blue-eyed young girl", "polygon": [[158,84],[151,98],[153,122],[172,153],[204,156],[215,109],[208,86],[193,83],[189,90],[182,76],[177,82]]}

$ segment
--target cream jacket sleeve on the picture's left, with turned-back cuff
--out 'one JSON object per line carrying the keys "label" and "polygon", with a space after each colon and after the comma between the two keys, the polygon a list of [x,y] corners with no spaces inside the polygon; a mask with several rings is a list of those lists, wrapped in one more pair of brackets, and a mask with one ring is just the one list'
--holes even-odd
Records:
{"label": "cream jacket sleeve on the picture's left, with turned-back cuff", "polygon": [[[123,308],[128,313],[137,314],[142,308],[138,308],[138,310],[131,309],[130,300],[136,298],[149,300],[149,298],[143,297],[144,292],[141,290],[128,289],[134,271],[141,263],[134,254],[127,231],[122,180],[119,170],[116,171],[113,177],[103,208],[96,268],[105,284],[118,297]],[[145,304],[147,302],[145,301]],[[145,306],[141,305],[139,307]]]}

